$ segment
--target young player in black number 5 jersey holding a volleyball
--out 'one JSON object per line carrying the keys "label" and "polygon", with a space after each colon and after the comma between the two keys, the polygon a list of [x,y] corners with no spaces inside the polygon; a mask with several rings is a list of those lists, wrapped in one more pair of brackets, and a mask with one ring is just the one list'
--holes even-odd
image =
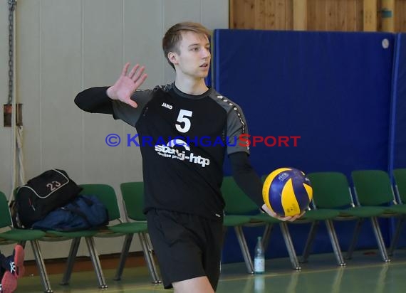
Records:
{"label": "young player in black number 5 jersey holding a volleyball", "polygon": [[145,213],[165,288],[214,292],[223,244],[224,201],[220,191],[227,152],[243,191],[271,216],[262,183],[249,163],[249,148],[235,143],[247,133],[241,108],[204,83],[209,73],[209,31],[177,23],[162,40],[175,82],[137,90],[147,75],[135,65],[111,87],[80,92],[76,105],[113,114],[137,129],[145,183]]}

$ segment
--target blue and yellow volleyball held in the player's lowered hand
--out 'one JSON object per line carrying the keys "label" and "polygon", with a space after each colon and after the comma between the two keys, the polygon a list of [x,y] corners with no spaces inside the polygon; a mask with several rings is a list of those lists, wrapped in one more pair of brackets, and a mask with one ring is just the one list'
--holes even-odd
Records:
{"label": "blue and yellow volleyball held in the player's lowered hand", "polygon": [[279,168],[266,176],[262,188],[264,202],[278,215],[299,215],[313,198],[311,181],[302,171]]}

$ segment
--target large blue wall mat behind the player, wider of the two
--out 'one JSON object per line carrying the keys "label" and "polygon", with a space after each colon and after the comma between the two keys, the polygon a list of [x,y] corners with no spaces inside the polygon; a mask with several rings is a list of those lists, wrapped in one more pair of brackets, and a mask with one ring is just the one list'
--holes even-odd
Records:
{"label": "large blue wall mat behind the player, wider of the two", "polygon": [[[350,183],[355,169],[386,171],[394,42],[391,33],[214,31],[212,82],[243,108],[249,133],[301,137],[296,147],[251,147],[256,171],[341,171]],[[377,247],[369,232],[358,248]],[[343,233],[345,247],[351,233]]]}

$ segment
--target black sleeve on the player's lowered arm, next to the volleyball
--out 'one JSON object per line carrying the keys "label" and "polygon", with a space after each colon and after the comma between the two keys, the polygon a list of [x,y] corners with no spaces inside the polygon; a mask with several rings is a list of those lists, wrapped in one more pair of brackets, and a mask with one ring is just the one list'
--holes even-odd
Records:
{"label": "black sleeve on the player's lowered arm, next to the volleyball", "polygon": [[229,155],[234,180],[239,188],[261,208],[264,205],[262,198],[262,181],[254,171],[245,151]]}

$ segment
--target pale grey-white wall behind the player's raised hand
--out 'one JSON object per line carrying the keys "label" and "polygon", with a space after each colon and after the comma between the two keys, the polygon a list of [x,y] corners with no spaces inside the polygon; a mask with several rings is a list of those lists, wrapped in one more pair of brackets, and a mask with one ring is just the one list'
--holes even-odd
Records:
{"label": "pale grey-white wall behind the player's raised hand", "polygon": [[[111,85],[127,61],[146,66],[143,87],[171,82],[173,70],[162,53],[167,28],[197,21],[227,28],[228,0],[19,0],[17,82],[24,104],[26,179],[51,168],[65,169],[76,183],[109,183],[117,193],[124,181],[141,181],[140,150],[109,147],[110,133],[135,129],[109,115],[88,114],[74,105],[78,92]],[[0,2],[0,68],[6,68],[7,4]],[[6,102],[7,73],[0,72],[0,98]],[[0,190],[11,191],[11,130],[0,127]],[[132,250],[140,250],[135,238]],[[123,239],[96,240],[100,254],[120,252]],[[68,251],[41,243],[43,256]],[[61,252],[62,251],[62,252]],[[86,254],[85,245],[80,254]]]}

